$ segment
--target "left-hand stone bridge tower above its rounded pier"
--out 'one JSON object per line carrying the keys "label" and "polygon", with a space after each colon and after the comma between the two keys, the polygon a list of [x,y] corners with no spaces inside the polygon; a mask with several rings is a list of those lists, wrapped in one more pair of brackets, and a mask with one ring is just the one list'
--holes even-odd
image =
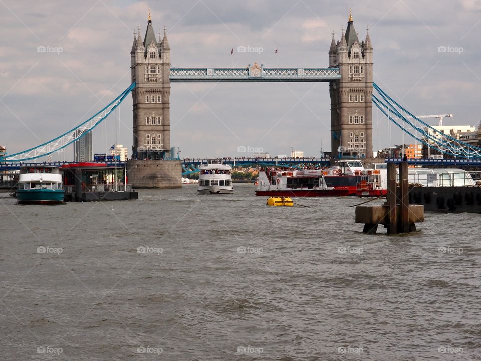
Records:
{"label": "left-hand stone bridge tower above its rounded pier", "polygon": [[147,22],[142,41],[140,26],[132,44],[133,159],[164,159],[170,151],[170,46],[164,28],[158,41]]}

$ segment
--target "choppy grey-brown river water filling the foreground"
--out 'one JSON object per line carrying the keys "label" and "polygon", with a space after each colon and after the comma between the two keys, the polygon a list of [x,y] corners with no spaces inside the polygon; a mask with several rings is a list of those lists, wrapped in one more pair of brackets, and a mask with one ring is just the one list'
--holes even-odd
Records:
{"label": "choppy grey-brown river water filling the foreground", "polygon": [[479,215],[370,236],[358,198],[195,189],[0,199],[0,359],[481,359]]}

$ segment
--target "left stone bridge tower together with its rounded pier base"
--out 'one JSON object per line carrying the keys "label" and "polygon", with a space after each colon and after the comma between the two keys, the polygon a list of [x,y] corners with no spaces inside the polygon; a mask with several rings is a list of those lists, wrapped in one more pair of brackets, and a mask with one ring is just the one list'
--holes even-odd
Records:
{"label": "left stone bridge tower together with its rounded pier base", "polygon": [[134,143],[127,162],[128,183],[134,188],[182,187],[182,164],[170,155],[170,46],[167,33],[158,40],[147,22],[142,41],[140,27],[132,51]]}

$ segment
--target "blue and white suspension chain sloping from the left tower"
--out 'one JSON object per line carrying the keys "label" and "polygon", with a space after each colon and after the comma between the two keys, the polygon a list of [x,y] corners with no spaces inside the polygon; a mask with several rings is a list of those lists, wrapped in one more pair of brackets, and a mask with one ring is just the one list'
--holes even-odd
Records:
{"label": "blue and white suspension chain sloping from the left tower", "polygon": [[107,106],[96,113],[91,118],[84,121],[82,124],[70,129],[68,132],[52,139],[46,143],[38,145],[34,148],[24,150],[19,153],[12,155],[6,155],[0,157],[0,161],[3,162],[13,162],[13,161],[25,161],[37,159],[52,153],[55,153],[66,146],[72,144],[73,142],[84,137],[87,133],[90,133],[97,125],[102,123],[105,118],[107,118],[110,113],[112,113],[127,95],[135,88],[135,82],[132,83],[127,89],[125,89],[117,98],[112,100]]}

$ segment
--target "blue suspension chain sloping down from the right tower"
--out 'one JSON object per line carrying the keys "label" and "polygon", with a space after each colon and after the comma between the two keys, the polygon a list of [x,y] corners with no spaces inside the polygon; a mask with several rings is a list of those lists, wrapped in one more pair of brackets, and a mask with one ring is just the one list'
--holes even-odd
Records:
{"label": "blue suspension chain sloping down from the right tower", "polygon": [[[419,117],[416,117],[408,110],[403,108],[377,84],[373,83],[373,88],[375,91],[377,91],[380,98],[382,98],[380,99],[373,94],[372,102],[374,105],[376,105],[379,110],[381,110],[381,112],[403,132],[440,153],[466,159],[481,158],[481,148],[465,143],[448,134],[444,134],[442,131],[430,126],[426,122],[419,119]],[[409,116],[404,116],[403,113],[406,113]],[[418,121],[426,128],[423,129],[416,126],[409,119]]]}

